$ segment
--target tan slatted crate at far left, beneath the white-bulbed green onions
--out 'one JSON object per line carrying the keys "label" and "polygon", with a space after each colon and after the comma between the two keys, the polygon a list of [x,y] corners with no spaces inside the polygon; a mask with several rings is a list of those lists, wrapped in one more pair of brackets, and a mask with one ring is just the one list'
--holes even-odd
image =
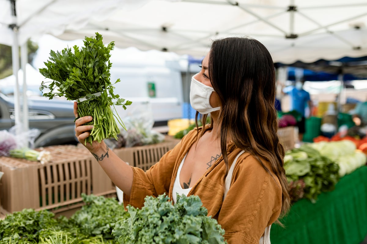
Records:
{"label": "tan slatted crate at far left, beneath the white-bulbed green onions", "polygon": [[50,146],[52,162],[0,157],[4,172],[0,187],[3,208],[62,211],[80,204],[81,193],[115,194],[116,188],[88,150],[73,145]]}

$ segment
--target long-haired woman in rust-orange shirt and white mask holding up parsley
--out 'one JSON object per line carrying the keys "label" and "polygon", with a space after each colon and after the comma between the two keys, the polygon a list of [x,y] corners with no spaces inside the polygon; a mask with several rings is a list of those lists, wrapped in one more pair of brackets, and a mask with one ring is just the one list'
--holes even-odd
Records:
{"label": "long-haired woman in rust-orange shirt and white mask holding up parsley", "polygon": [[[86,147],[124,192],[125,206],[142,207],[146,195],[166,193],[174,201],[176,193],[198,195],[229,244],[258,244],[265,228],[289,208],[268,50],[250,38],[214,41],[192,78],[190,102],[203,121],[210,113],[211,124],[189,132],[146,173],[125,164],[104,142]],[[83,124],[91,119],[76,121],[83,144],[91,129]],[[229,167],[242,150],[224,197]]]}

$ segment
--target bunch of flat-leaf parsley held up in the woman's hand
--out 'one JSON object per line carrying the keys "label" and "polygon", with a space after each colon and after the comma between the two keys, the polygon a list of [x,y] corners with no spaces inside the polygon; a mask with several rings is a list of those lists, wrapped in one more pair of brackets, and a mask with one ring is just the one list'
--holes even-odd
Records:
{"label": "bunch of flat-leaf parsley held up in the woman's hand", "polygon": [[85,37],[83,47],[74,46],[74,52],[71,48],[65,48],[61,52],[51,50],[49,60],[44,62],[46,68],[39,70],[44,77],[52,80],[41,83],[41,91],[49,89],[43,94],[44,97],[52,99],[59,96],[78,101],[78,115],[93,117],[88,124],[94,127],[86,143],[92,143],[93,140],[101,142],[111,137],[117,140],[120,129],[114,117],[122,128],[126,127],[110,106],[122,105],[126,109],[126,106],[131,104],[131,101],[113,93],[113,85],[120,82],[120,79],[115,83],[110,81],[112,63],[109,58],[115,43],[110,42],[105,46],[102,35],[95,34],[95,38]]}

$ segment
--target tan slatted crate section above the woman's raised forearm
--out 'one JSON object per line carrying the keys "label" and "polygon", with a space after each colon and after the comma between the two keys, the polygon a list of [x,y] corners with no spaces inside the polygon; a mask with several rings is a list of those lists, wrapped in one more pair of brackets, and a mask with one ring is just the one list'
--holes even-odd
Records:
{"label": "tan slatted crate section above the woman's raised forearm", "polygon": [[179,139],[166,137],[165,141],[161,143],[139,147],[123,147],[113,151],[129,165],[146,171],[156,164],[165,153],[174,148],[179,141]]}

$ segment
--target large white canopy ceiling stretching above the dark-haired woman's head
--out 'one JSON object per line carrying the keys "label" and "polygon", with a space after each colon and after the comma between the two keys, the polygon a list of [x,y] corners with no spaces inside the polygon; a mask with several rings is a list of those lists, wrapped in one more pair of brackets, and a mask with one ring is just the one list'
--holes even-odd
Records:
{"label": "large white canopy ceiling stretching above the dark-haired woman's head", "polygon": [[152,0],[103,21],[91,19],[81,29],[67,28],[58,37],[82,38],[95,31],[121,48],[196,57],[206,54],[212,39],[247,35],[261,41],[275,62],[333,60],[367,55],[367,2]]}

